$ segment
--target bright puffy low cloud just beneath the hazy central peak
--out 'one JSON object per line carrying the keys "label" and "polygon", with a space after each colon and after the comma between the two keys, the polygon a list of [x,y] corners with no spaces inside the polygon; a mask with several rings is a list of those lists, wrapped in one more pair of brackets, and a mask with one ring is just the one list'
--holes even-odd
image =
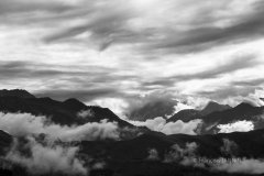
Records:
{"label": "bright puffy low cloud just beneath the hazy central peak", "polygon": [[178,120],[176,122],[168,122],[164,118],[155,118],[153,120],[146,120],[145,122],[141,121],[129,121],[130,123],[138,127],[147,127],[153,131],[163,132],[164,134],[196,134],[195,130],[202,122],[201,120],[193,120],[187,123]]}

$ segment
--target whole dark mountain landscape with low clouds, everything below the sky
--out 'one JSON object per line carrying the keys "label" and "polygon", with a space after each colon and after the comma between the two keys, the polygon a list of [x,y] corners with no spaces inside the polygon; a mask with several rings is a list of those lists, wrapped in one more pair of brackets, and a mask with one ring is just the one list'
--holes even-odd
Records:
{"label": "whole dark mountain landscape with low clouds, everything below the sky", "polygon": [[0,90],[0,110],[1,166],[11,175],[264,173],[264,107],[209,102],[168,119],[150,113],[134,121],[74,98],[57,101],[15,89]]}

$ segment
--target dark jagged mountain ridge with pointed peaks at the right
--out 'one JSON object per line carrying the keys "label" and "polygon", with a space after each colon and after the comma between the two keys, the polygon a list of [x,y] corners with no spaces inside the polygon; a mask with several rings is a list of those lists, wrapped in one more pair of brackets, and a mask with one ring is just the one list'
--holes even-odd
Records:
{"label": "dark jagged mountain ridge with pointed peaks at the right", "polygon": [[237,121],[250,121],[254,124],[254,129],[264,128],[264,107],[252,107],[249,103],[241,103],[234,108],[221,106],[216,102],[210,102],[201,110],[182,110],[167,119],[168,122],[182,120],[189,122],[195,119],[201,119],[202,124],[199,127],[199,134],[215,134],[220,131],[218,125],[231,124]]}

